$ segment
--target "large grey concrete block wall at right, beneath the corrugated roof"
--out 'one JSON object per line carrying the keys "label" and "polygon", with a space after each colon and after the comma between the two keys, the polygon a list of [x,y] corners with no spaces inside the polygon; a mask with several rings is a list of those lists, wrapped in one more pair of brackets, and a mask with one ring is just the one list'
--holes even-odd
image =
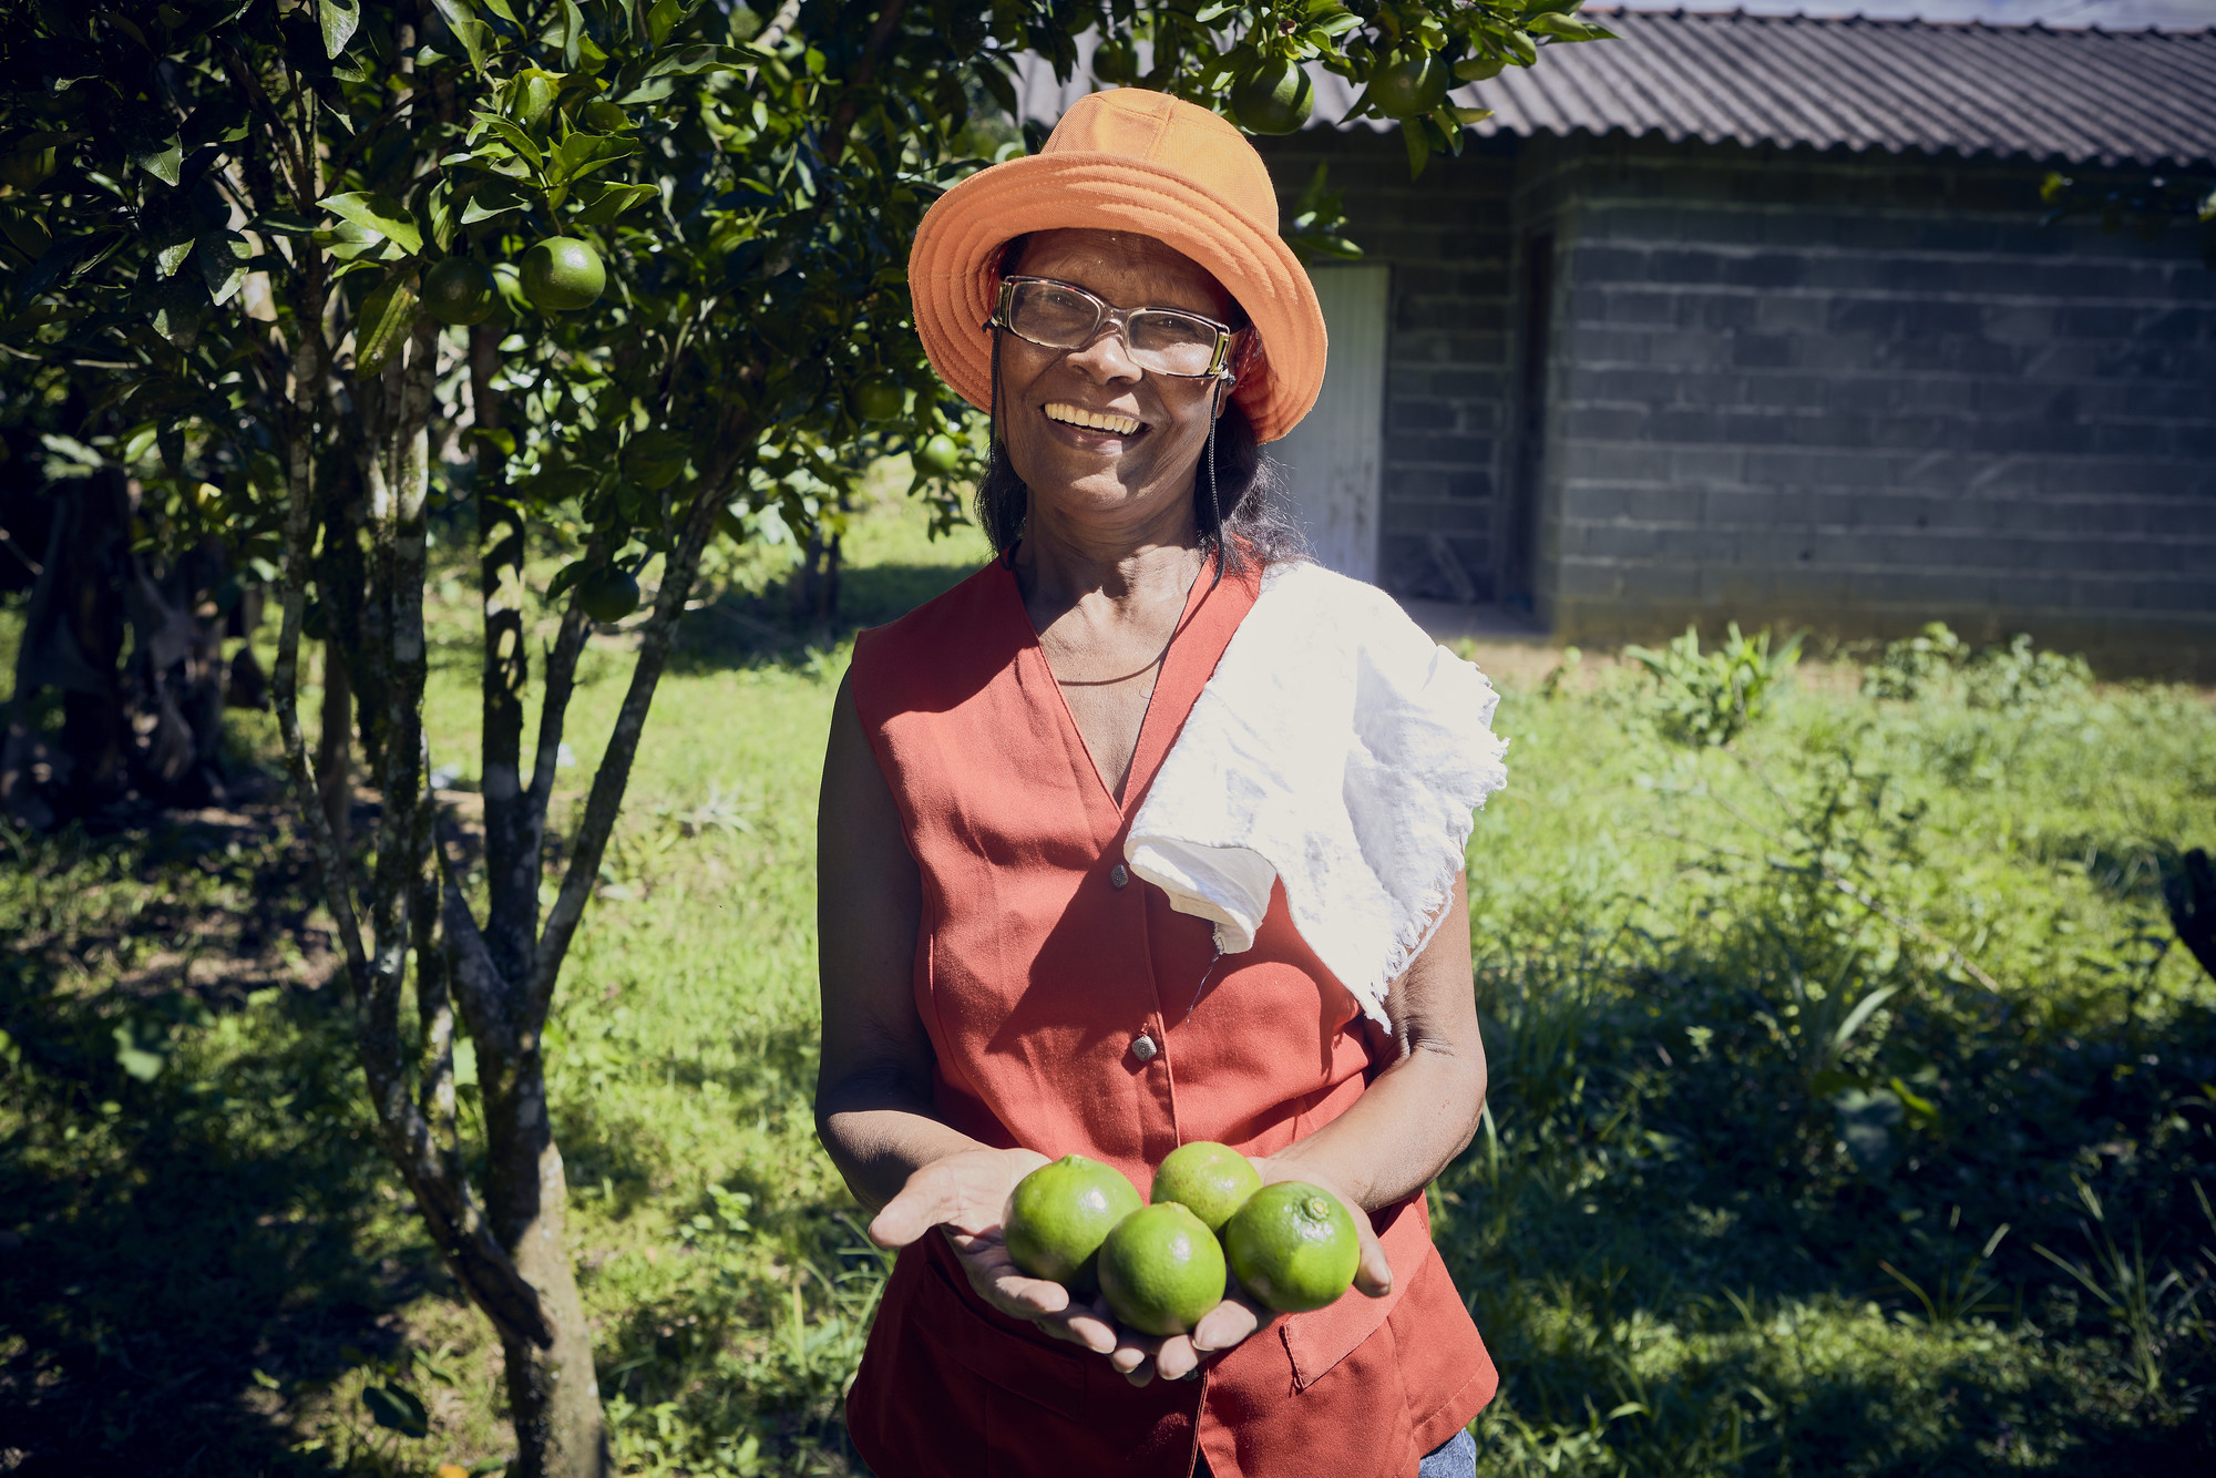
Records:
{"label": "large grey concrete block wall at right, beneath the corrugated roof", "polygon": [[2216,676],[2216,273],[2185,228],[2041,226],[2039,177],[1529,140],[1553,629],[1943,618]]}

